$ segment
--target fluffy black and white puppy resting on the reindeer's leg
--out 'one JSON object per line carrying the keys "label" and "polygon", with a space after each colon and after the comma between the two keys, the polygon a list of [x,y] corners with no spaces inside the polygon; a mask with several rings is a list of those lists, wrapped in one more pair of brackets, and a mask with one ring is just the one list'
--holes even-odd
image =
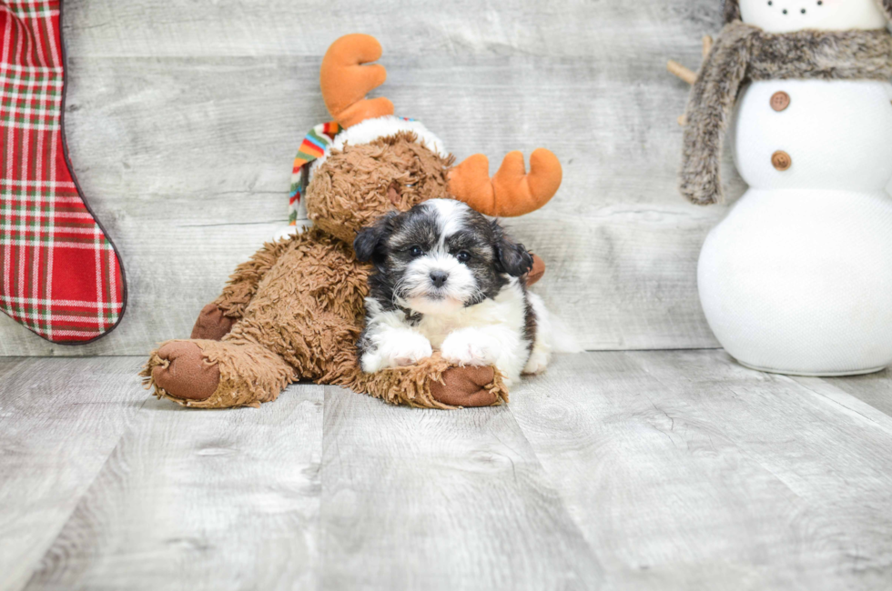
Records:
{"label": "fluffy black and white puppy resting on the reindeer's leg", "polygon": [[375,265],[358,343],[362,370],[408,366],[439,349],[461,366],[535,374],[552,353],[552,323],[522,275],[532,257],[468,205],[431,199],[391,213],[353,243]]}

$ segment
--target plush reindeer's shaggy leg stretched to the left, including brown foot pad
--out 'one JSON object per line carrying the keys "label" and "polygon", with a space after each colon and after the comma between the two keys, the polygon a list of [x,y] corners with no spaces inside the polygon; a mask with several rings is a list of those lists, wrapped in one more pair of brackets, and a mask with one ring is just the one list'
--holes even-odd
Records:
{"label": "plush reindeer's shaggy leg stretched to the left, including brown foot pad", "polygon": [[228,408],[275,400],[294,379],[294,370],[258,344],[167,341],[149,356],[141,376],[158,398]]}

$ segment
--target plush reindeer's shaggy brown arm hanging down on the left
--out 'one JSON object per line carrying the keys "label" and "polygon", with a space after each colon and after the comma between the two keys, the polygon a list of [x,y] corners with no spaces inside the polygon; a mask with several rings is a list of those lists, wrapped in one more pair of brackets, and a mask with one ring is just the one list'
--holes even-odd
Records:
{"label": "plush reindeer's shaggy brown arm hanging down on the left", "polygon": [[218,341],[226,336],[245,314],[245,308],[257,293],[260,280],[276,264],[292,240],[293,238],[289,238],[269,242],[247,262],[238,265],[223,288],[223,293],[198,314],[198,320],[192,328],[192,338]]}

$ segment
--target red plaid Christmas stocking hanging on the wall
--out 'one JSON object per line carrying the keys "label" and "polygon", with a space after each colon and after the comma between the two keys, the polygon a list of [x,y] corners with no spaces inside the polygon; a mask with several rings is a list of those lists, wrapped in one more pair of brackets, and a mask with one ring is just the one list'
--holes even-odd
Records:
{"label": "red plaid Christmas stocking hanging on the wall", "polygon": [[0,309],[54,343],[124,313],[114,245],[67,164],[60,0],[0,0]]}

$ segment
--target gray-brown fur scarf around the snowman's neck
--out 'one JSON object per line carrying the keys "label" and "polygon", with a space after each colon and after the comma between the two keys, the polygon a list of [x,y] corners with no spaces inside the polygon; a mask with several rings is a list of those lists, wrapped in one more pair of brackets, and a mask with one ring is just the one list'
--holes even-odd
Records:
{"label": "gray-brown fur scarf around the snowman's neck", "polygon": [[[732,4],[725,9],[734,14]],[[773,34],[733,21],[716,39],[688,101],[682,195],[698,205],[724,199],[721,159],[725,130],[746,80],[890,78],[892,35],[885,29]]]}

